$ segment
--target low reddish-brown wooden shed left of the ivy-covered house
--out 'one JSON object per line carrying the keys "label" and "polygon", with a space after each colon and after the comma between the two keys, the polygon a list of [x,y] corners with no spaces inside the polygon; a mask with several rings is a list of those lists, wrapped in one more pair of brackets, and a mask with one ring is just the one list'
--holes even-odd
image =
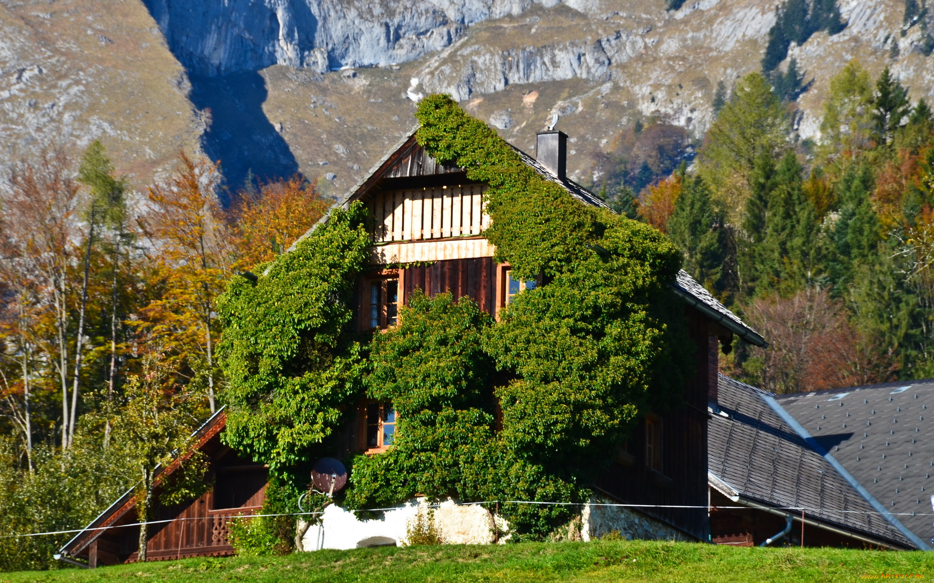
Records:
{"label": "low reddish-brown wooden shed left of the ivy-covered house", "polygon": [[[226,421],[227,416],[220,409],[194,434],[198,440],[195,449],[204,452],[209,461],[205,480],[213,482],[204,494],[187,504],[164,506],[159,502],[162,491],[159,483],[177,466],[169,466],[156,478],[151,519],[155,523],[149,525],[147,548],[149,561],[232,555],[233,547],[227,541],[228,521],[240,514],[253,514],[262,507],[266,468],[239,457],[220,443]],[[84,561],[92,568],[99,564],[135,562],[139,526],[130,525],[138,522],[130,490],[68,541],[59,550],[58,558],[65,562]]]}

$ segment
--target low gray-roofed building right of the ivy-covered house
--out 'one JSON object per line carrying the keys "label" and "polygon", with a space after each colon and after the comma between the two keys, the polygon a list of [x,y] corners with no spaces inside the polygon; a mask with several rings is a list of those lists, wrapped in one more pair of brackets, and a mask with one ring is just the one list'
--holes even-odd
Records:
{"label": "low gray-roofed building right of the ivy-covered house", "polygon": [[[708,441],[712,542],[751,547],[771,539],[769,544],[797,547],[802,544],[803,534],[803,545],[809,547],[928,550],[925,540],[906,528],[906,524],[915,527],[912,517],[897,515],[901,511],[899,504],[893,506],[889,497],[881,497],[886,490],[897,487],[893,483],[904,483],[902,491],[907,494],[908,484],[899,482],[900,474],[907,471],[899,469],[903,461],[919,462],[913,470],[912,484],[913,490],[920,492],[923,486],[915,482],[926,479],[931,460],[930,450],[927,457],[920,454],[920,442],[914,448],[915,455],[907,454],[911,449],[908,442],[913,438],[913,423],[908,423],[910,427],[899,425],[904,425],[902,446],[894,441],[898,432],[893,430],[893,435],[889,435],[892,415],[887,414],[887,409],[894,410],[899,405],[894,399],[890,407],[883,409],[883,404],[888,404],[885,397],[894,386],[870,389],[871,395],[837,391],[774,396],[720,376],[719,398],[716,407],[712,404]],[[932,389],[934,385],[927,389],[926,395],[934,396]],[[903,415],[901,419],[923,417],[924,399],[920,395],[915,399],[914,392],[905,394],[914,407],[909,412],[902,405],[898,413]],[[848,398],[844,400],[841,396]],[[871,399],[875,405],[863,403],[864,399]],[[846,401],[849,408],[841,406]],[[870,413],[872,407],[876,409],[874,415]],[[860,412],[866,409],[865,414],[857,409]],[[821,419],[822,415],[825,419]],[[872,421],[883,421],[884,417],[884,421],[870,421],[867,425],[869,417],[873,417]],[[870,427],[878,428],[870,434]],[[864,433],[878,437],[862,437]],[[855,442],[845,447],[851,438]],[[891,446],[882,445],[886,439]],[[860,442],[866,444],[865,449],[859,449]],[[889,452],[886,458],[889,465],[883,467],[884,460],[876,458],[886,447],[901,455],[896,460],[893,452]],[[847,471],[851,458],[866,460],[866,465],[871,465],[856,474],[858,479]],[[899,467],[893,467],[896,464]],[[882,469],[877,470],[877,465]],[[882,485],[874,489],[873,474],[885,476],[885,483],[879,482]],[[915,493],[903,494],[899,503],[929,513],[925,496],[916,501],[917,497]],[[929,532],[930,517],[917,519],[917,526],[925,524]]]}

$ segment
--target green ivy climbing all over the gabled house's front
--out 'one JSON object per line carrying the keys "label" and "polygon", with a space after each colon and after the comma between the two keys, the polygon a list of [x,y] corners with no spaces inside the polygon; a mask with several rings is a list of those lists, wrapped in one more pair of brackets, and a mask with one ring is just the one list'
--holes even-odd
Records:
{"label": "green ivy climbing all over the gabled house's front", "polygon": [[[498,261],[544,285],[500,322],[470,298],[417,293],[364,347],[353,282],[369,239],[359,205],[223,302],[228,443],[271,468],[307,461],[363,391],[398,412],[389,451],[351,461],[348,507],[415,493],[580,502],[647,410],[671,406],[690,345],[669,289],[676,248],[655,229],[576,201],[449,96],[419,104],[418,143],[486,182]],[[242,281],[241,281],[242,280]],[[497,419],[496,406],[500,416]],[[514,540],[540,538],[569,507],[501,505]]]}

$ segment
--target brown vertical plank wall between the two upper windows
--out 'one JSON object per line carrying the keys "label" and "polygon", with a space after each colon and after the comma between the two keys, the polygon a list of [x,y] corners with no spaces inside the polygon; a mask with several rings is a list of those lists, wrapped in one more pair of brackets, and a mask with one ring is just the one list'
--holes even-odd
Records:
{"label": "brown vertical plank wall between the two upper windows", "polygon": [[450,291],[455,299],[470,296],[480,309],[496,311],[496,263],[493,257],[446,259],[432,265],[408,268],[403,274],[403,302],[421,289],[429,297]]}

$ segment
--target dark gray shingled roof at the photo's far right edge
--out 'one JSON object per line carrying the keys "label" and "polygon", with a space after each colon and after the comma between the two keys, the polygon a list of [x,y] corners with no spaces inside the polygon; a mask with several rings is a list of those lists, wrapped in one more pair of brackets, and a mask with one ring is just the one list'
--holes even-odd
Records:
{"label": "dark gray shingled roof at the photo's far right edge", "polygon": [[931,540],[934,379],[776,399],[902,524]]}

